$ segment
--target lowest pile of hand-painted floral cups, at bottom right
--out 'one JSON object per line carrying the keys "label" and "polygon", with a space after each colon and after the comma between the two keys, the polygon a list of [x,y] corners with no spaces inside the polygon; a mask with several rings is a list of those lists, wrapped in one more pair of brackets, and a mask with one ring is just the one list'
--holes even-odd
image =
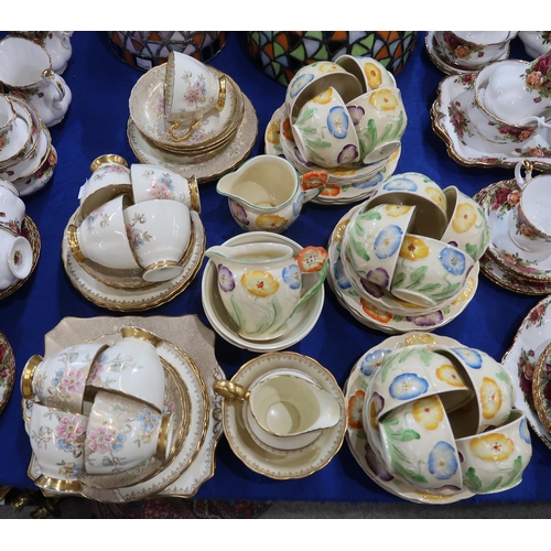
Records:
{"label": "lowest pile of hand-painted floral cups, at bottom right", "polygon": [[359,375],[366,390],[355,424],[366,433],[376,480],[396,478],[402,494],[434,498],[520,484],[530,433],[501,364],[460,343],[380,349],[378,359],[372,372]]}

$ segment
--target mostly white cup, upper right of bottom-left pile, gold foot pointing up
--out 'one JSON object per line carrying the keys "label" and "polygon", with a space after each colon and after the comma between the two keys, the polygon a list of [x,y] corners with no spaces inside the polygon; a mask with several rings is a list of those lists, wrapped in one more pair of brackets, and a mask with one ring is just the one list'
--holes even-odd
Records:
{"label": "mostly white cup, upper right of bottom-left pile, gold foot pointing up", "polygon": [[122,327],[122,338],[96,357],[91,387],[137,398],[159,411],[164,403],[164,369],[156,352],[163,341],[140,327]]}

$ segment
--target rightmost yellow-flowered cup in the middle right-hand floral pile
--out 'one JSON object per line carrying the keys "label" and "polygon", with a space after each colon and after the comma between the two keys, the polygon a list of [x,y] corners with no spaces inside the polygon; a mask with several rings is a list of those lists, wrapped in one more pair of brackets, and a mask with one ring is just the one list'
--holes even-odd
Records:
{"label": "rightmost yellow-flowered cup in the middle right-hand floral pile", "polygon": [[450,222],[441,240],[463,250],[476,262],[490,239],[486,216],[476,201],[454,185],[447,186],[444,195]]}

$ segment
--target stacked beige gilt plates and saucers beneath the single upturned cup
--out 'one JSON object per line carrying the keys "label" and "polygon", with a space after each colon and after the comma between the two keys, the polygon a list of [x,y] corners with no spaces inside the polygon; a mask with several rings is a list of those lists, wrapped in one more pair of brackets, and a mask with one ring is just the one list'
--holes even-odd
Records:
{"label": "stacked beige gilt plates and saucers beneath the single upturned cup", "polygon": [[[208,67],[216,76],[218,69]],[[228,75],[226,104],[222,111],[212,109],[194,128],[179,128],[169,136],[164,117],[164,77],[166,64],[148,71],[130,94],[128,139],[136,156],[144,164],[156,164],[198,182],[219,177],[239,164],[252,149],[258,119],[250,100]],[[237,150],[236,150],[237,149]],[[230,153],[230,154],[228,154]],[[236,156],[238,159],[236,159]]]}

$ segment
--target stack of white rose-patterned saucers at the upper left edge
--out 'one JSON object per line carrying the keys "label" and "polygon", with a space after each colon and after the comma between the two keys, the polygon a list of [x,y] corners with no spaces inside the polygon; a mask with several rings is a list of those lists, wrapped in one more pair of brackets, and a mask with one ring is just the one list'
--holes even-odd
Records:
{"label": "stack of white rose-patterned saucers at the upper left edge", "polygon": [[30,195],[50,182],[57,153],[34,106],[17,96],[7,97],[23,131],[0,152],[0,179],[11,182],[21,196]]}

